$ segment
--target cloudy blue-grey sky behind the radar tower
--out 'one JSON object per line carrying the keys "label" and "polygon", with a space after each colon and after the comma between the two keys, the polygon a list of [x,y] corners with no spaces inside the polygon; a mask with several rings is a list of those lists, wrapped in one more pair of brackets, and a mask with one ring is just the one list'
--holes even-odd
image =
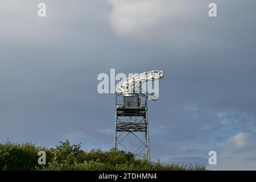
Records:
{"label": "cloudy blue-grey sky behind the radar tower", "polygon": [[164,70],[159,100],[148,101],[151,159],[256,170],[255,6],[0,0],[0,142],[109,150],[115,95],[97,92],[97,76]]}

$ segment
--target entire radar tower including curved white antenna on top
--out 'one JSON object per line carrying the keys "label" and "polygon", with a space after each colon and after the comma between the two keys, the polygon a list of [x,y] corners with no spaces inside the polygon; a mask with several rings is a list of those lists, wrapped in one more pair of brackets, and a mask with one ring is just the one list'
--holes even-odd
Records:
{"label": "entire radar tower including curved white antenna on top", "polygon": [[[114,147],[150,161],[147,99],[154,94],[142,90],[142,82],[163,78],[163,71],[151,71],[128,77],[116,89]],[[135,148],[131,138],[137,140]],[[128,143],[128,146],[127,146]]]}

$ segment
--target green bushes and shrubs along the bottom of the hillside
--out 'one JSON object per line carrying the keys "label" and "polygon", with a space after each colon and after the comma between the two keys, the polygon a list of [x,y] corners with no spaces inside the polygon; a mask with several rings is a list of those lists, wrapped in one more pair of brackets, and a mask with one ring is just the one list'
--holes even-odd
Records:
{"label": "green bushes and shrubs along the bottom of the hillside", "polygon": [[[46,165],[38,164],[38,151],[46,152]],[[80,144],[68,140],[55,148],[37,147],[32,143],[0,143],[0,170],[206,170],[203,165],[149,163],[130,152],[81,150]]]}

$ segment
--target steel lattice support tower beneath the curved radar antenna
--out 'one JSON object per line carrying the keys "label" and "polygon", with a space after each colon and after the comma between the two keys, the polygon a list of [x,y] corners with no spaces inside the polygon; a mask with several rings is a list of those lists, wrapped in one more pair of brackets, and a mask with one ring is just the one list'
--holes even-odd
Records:
{"label": "steel lattice support tower beneath the curved radar antenna", "polygon": [[[116,96],[115,106],[114,147],[129,151],[139,158],[150,160],[147,98],[141,98],[136,94]],[[132,144],[138,144],[133,151],[130,148],[130,137],[136,140]],[[129,148],[127,141],[125,142],[127,138],[129,138]]]}

